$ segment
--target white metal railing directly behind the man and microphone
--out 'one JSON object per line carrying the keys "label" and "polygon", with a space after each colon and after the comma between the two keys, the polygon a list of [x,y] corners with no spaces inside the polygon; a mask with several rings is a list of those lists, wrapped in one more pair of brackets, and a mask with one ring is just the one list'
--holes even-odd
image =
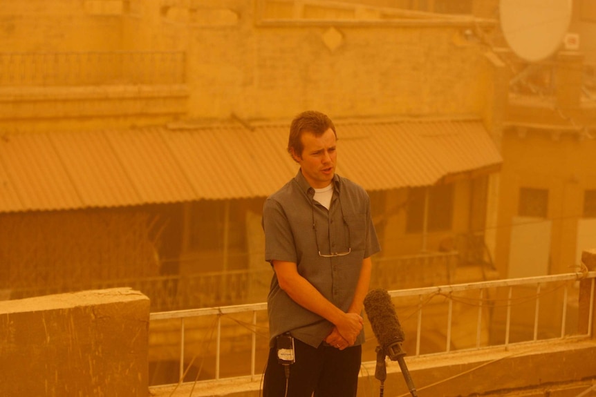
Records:
{"label": "white metal railing directly behind the man and microphone", "polygon": [[[400,318],[400,322],[406,333],[408,330],[415,330],[416,339],[413,342],[415,344],[413,350],[416,353],[414,355],[426,356],[449,354],[452,351],[474,351],[487,347],[507,348],[514,344],[562,338],[591,338],[595,279],[596,271],[591,271],[393,290],[389,291],[389,295],[392,297],[398,313],[411,311],[409,315]],[[582,280],[581,283],[579,280]],[[586,307],[586,302],[581,303],[584,305],[581,307],[579,302],[580,284],[584,293],[586,289],[589,291],[589,307]],[[163,356],[163,354],[155,354],[156,350],[163,348],[160,345],[161,340],[161,343],[168,346],[170,358],[172,358],[172,348],[175,345],[171,343],[172,332],[177,333],[174,339],[179,338],[176,348],[178,380],[162,383],[162,385],[184,382],[185,374],[196,355],[213,356],[214,372],[209,378],[210,380],[230,380],[232,378],[254,380],[257,376],[257,351],[261,349],[265,351],[268,348],[268,336],[265,330],[267,327],[266,309],[266,303],[258,303],[151,313],[150,356]],[[570,311],[573,311],[572,316],[570,316]],[[528,313],[531,313],[531,316],[528,316]],[[456,320],[456,314],[458,317],[463,316],[463,319]],[[259,315],[261,315],[260,319]],[[241,320],[240,317],[234,318],[234,316],[250,316],[250,320]],[[475,322],[471,321],[472,317],[475,317]],[[214,321],[212,325],[196,321],[201,318],[214,318]],[[224,319],[232,320],[236,326],[244,330],[244,333],[230,331],[230,327],[224,329],[222,323]],[[430,320],[430,326],[425,325],[424,320],[426,319]],[[437,319],[440,320],[437,321]],[[437,331],[436,325],[443,320],[445,328],[442,331]],[[168,325],[160,327],[160,323]],[[259,331],[260,327],[263,327],[263,332]],[[365,331],[367,328],[367,336],[373,335],[370,332],[370,324],[365,318]],[[177,331],[175,331],[176,329]],[[434,333],[434,338],[425,339],[427,332]],[[441,338],[436,338],[437,332]],[[197,333],[205,338],[215,333],[214,351],[210,351],[204,345],[196,348],[196,341],[200,338],[196,336]],[[162,338],[156,338],[157,334],[161,334]],[[194,334],[194,336],[189,337],[190,334]],[[250,348],[247,336],[250,338]],[[243,340],[243,343],[246,343],[244,348],[250,353],[250,370],[242,375],[223,377],[221,375],[223,351],[225,350],[229,354],[234,350],[230,339]],[[258,339],[261,340],[261,345],[258,344]],[[444,347],[438,346],[436,342],[438,339],[445,342]],[[432,342],[433,340],[434,342]],[[426,345],[434,343],[434,349],[423,346],[423,341]],[[195,346],[193,360],[187,360],[185,357],[186,351],[193,350],[187,346],[190,343]],[[374,344],[365,345],[374,347]],[[151,349],[154,350],[153,354],[151,354]],[[234,353],[236,358],[238,349],[239,347],[236,346],[236,353]],[[365,356],[363,350],[363,361],[375,360],[374,352],[369,353],[371,354]],[[259,356],[264,358],[266,354]],[[201,377],[198,375],[194,378],[194,380],[200,379]]]}

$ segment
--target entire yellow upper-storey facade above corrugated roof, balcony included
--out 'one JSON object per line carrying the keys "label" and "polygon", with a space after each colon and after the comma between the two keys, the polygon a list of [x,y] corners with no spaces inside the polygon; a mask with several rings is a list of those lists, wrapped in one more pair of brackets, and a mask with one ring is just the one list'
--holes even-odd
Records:
{"label": "entire yellow upper-storey facade above corrugated roof, balcony included", "polygon": [[[335,10],[319,8],[324,14]],[[7,26],[0,32],[0,44],[6,44],[0,66],[18,71],[0,68],[0,88],[11,89],[0,90],[0,114],[8,118],[0,119],[0,126],[13,129],[24,128],[22,120],[28,130],[48,128],[42,122],[48,117],[53,128],[123,128],[176,118],[226,119],[232,113],[242,119],[288,119],[306,108],[334,118],[480,115],[490,105],[483,90],[490,79],[485,46],[465,34],[474,27],[472,21],[419,27],[380,19],[270,23],[261,20],[252,0],[55,0],[52,6],[32,0],[11,3],[0,10],[0,20]],[[21,57],[40,52],[48,58],[21,66]],[[102,57],[183,53],[184,77],[178,79],[183,81],[176,81],[188,93],[165,86],[151,100],[144,93],[130,98],[130,93],[97,90],[93,84],[106,84],[100,79],[80,97],[71,85],[90,78],[79,74],[122,78],[111,64],[100,62],[97,72],[95,63],[84,61],[87,52]],[[161,70],[153,61],[137,64],[127,58],[123,63],[139,68],[138,75]],[[44,67],[36,71],[40,64]],[[54,66],[66,81],[60,90],[70,97],[44,86],[40,101],[28,86],[39,88]],[[164,84],[162,75],[151,76],[122,83],[133,86],[128,90]],[[17,93],[12,92],[15,85]]]}

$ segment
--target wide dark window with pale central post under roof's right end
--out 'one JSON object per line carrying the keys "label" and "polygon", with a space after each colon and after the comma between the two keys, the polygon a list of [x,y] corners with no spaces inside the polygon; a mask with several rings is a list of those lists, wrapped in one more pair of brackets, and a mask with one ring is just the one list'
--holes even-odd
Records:
{"label": "wide dark window with pale central post under roof's right end", "polygon": [[429,195],[427,231],[451,229],[454,186],[448,184],[411,189],[407,209],[407,233],[420,233],[424,229],[425,195],[427,192]]}

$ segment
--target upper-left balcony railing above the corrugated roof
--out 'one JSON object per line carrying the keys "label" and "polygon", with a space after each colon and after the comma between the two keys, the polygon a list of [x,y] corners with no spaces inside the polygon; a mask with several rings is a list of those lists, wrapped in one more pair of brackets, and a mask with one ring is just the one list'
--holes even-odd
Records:
{"label": "upper-left balcony railing above the corrugated roof", "polygon": [[0,52],[0,87],[184,82],[184,52]]}

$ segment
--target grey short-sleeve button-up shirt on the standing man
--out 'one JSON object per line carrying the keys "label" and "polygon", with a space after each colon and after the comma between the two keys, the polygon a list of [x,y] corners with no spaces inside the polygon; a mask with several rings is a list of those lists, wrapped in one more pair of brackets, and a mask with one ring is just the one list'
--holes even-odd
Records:
{"label": "grey short-sleeve button-up shirt on the standing man", "polygon": [[[335,306],[347,311],[356,289],[362,260],[380,251],[364,188],[335,175],[329,210],[313,198],[315,191],[301,171],[263,206],[265,260],[297,264],[306,278]],[[330,253],[346,255],[323,258]],[[290,331],[295,338],[318,347],[333,324],[294,302],[273,275],[268,296],[270,345]],[[364,342],[364,332],[356,345]]]}

